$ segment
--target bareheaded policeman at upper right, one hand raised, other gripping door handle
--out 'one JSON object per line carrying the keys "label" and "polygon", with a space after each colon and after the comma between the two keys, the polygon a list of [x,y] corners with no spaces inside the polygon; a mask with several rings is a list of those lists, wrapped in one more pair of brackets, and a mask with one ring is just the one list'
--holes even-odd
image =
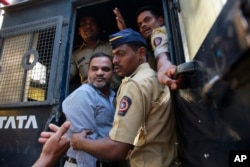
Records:
{"label": "bareheaded policeman at upper right, one hand raised, other gripping door handle", "polygon": [[[120,30],[126,28],[125,21],[118,8],[113,10],[116,15],[116,21]],[[182,78],[174,79],[176,66],[168,58],[168,39],[164,18],[161,12],[153,6],[142,6],[136,12],[136,22],[141,35],[148,41],[151,41],[151,48],[148,50],[148,63],[151,68],[157,71],[158,80],[176,90],[181,85]],[[154,30],[155,29],[155,30]]]}

